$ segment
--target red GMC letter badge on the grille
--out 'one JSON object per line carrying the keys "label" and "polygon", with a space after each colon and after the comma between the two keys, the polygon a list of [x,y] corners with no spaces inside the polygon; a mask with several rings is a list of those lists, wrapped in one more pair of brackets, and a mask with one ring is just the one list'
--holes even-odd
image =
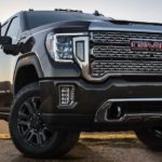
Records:
{"label": "red GMC letter badge on the grille", "polygon": [[162,41],[132,40],[132,51],[159,51],[162,52]]}

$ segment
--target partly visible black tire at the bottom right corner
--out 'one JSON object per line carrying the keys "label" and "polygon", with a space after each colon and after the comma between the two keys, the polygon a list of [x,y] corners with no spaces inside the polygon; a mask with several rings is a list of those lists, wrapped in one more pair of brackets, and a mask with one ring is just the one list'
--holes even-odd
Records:
{"label": "partly visible black tire at the bottom right corner", "polygon": [[149,149],[162,151],[162,129],[139,129],[135,131],[139,140],[141,140]]}

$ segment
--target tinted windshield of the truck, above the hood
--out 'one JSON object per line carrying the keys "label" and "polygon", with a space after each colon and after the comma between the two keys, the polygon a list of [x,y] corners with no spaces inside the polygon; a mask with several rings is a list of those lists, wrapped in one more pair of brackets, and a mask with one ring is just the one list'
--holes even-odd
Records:
{"label": "tinted windshield of the truck, above the hood", "polygon": [[42,25],[57,23],[62,21],[92,21],[108,19],[104,16],[93,14],[60,11],[33,11],[26,13],[27,28],[32,29]]}

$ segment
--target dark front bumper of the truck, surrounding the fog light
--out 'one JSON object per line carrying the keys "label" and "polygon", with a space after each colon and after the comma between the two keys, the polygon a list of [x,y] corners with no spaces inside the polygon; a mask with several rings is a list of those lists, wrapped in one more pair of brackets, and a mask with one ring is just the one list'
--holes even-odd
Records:
{"label": "dark front bumper of the truck, surrounding the fog light", "polygon": [[[75,107],[59,108],[58,86],[62,84],[75,85],[75,100],[77,102]],[[84,80],[42,80],[40,89],[42,116],[45,123],[53,129],[132,130],[141,126],[143,123],[152,124],[162,119],[161,113],[156,111],[152,116],[144,116],[144,118],[136,116],[137,118],[121,122],[113,120],[109,122],[100,114],[102,119],[96,121],[96,113],[108,99],[162,98],[162,82],[130,82],[111,79],[102,84],[93,84]],[[154,100],[153,104],[156,103]]]}

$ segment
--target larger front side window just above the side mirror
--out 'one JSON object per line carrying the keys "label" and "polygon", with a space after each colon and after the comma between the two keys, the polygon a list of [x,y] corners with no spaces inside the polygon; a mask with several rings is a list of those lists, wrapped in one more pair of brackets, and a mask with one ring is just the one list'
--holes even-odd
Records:
{"label": "larger front side window just above the side mirror", "polygon": [[21,33],[21,24],[19,18],[15,17],[12,19],[6,36],[11,37],[13,43],[16,43],[18,36]]}

